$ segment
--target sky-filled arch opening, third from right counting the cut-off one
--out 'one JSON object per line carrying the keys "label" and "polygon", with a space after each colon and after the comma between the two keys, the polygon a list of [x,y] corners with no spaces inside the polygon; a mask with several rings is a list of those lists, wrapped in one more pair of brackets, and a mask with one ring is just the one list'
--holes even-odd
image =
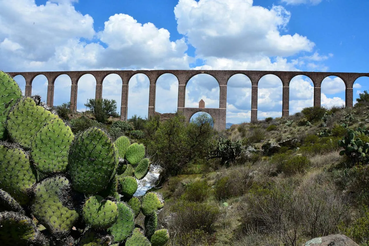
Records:
{"label": "sky-filled arch opening, third from right counting the cut-off one", "polygon": [[314,84],[308,76],[297,75],[290,82],[289,114],[314,106]]}

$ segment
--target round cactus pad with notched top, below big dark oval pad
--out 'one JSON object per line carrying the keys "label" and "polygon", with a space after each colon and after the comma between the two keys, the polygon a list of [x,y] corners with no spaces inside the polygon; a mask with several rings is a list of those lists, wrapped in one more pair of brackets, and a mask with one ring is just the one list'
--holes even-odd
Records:
{"label": "round cactus pad with notched top, below big dark oval pad", "polygon": [[106,229],[117,221],[118,207],[115,202],[94,195],[83,205],[82,216],[86,224],[92,228]]}

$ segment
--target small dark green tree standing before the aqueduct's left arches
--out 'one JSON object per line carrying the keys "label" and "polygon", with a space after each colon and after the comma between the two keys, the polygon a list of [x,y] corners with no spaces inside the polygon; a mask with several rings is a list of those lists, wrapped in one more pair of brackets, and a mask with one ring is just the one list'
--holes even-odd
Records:
{"label": "small dark green tree standing before the aqueduct's left arches", "polygon": [[93,112],[96,120],[101,123],[105,123],[108,117],[119,116],[117,111],[117,102],[108,99],[89,99],[89,102],[85,104],[86,107]]}

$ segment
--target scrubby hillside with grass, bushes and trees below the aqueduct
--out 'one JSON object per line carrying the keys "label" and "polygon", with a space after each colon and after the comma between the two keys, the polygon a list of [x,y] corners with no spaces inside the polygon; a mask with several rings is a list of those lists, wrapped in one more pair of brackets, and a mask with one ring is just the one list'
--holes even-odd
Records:
{"label": "scrubby hillside with grass, bushes and trees below the aqueduct", "polygon": [[[367,99],[219,132],[205,114],[192,123],[110,117],[100,127],[144,143],[163,168],[151,190],[166,201],[158,229],[168,228],[168,245],[301,245],[335,233],[367,245]],[[72,130],[102,124],[86,115],[70,120]]]}

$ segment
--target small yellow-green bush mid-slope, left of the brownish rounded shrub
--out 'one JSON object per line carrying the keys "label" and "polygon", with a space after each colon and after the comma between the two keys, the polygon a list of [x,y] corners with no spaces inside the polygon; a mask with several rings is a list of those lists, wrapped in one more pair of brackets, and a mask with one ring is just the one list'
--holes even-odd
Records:
{"label": "small yellow-green bush mid-slope, left of the brownish rounded shrub", "polygon": [[182,198],[189,202],[204,202],[209,195],[209,187],[206,180],[203,180],[187,184],[187,189]]}

